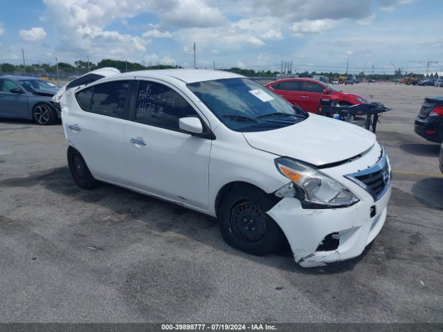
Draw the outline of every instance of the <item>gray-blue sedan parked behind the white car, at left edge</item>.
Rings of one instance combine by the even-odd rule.
[[[0,76],[0,118],[33,119],[51,124],[60,111],[51,104],[59,88],[32,76]]]

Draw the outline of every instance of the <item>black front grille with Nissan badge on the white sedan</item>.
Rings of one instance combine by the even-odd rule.
[[[369,192],[374,201],[380,199],[388,190],[392,173],[385,150],[382,148],[378,163],[368,169],[345,176]]]

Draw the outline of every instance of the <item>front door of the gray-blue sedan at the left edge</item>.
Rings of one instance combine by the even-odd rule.
[[[23,93],[12,93],[11,89],[21,89],[12,80],[0,80],[0,116],[7,118],[29,118],[28,96]]]

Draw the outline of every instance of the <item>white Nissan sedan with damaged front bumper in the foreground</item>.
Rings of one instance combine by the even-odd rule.
[[[113,183],[217,216],[253,255],[285,239],[301,266],[356,257],[380,232],[391,192],[370,131],[308,114],[224,71],[122,73],[68,89],[75,183]]]

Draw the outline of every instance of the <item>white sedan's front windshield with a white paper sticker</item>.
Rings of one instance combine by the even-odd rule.
[[[226,127],[234,131],[266,131],[287,127],[307,118],[264,86],[247,78],[230,78],[188,84]]]

